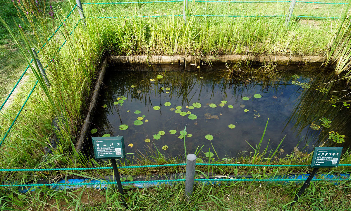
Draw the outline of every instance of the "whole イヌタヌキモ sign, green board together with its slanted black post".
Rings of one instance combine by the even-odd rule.
[[[305,183],[300,188],[299,192],[294,198],[294,202],[291,203],[293,206],[300,198],[306,187],[309,186],[312,178],[318,172],[319,168],[327,167],[338,167],[341,152],[343,147],[315,147],[313,151],[313,157],[311,162],[312,172],[306,179]]]

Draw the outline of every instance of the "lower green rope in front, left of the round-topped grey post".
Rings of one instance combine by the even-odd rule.
[[[147,180],[147,181],[124,181],[122,184],[131,183],[161,183],[161,182],[180,182],[185,179],[165,179],[165,180]],[[8,184],[0,185],[0,187],[23,187],[23,186],[78,186],[78,185],[112,185],[117,182],[100,182],[100,183],[53,183],[53,184]]]

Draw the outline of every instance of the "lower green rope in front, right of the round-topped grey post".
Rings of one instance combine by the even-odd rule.
[[[194,179],[194,181],[305,181],[305,179]],[[312,181],[343,181],[343,180],[351,180],[351,178],[325,178],[325,179],[312,179]]]

